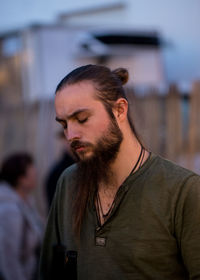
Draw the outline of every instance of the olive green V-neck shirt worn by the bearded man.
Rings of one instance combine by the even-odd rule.
[[[61,176],[44,238],[40,279],[53,245],[77,251],[78,280],[200,279],[200,177],[151,154],[118,191],[102,227],[88,205],[79,245],[72,231],[76,165]]]

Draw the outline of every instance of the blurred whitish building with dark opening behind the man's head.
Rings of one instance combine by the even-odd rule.
[[[52,98],[59,80],[83,64],[126,67],[135,86],[165,83],[156,32],[35,26],[0,38],[0,99],[16,104]]]

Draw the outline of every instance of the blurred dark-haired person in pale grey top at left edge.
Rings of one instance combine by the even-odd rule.
[[[37,279],[43,225],[31,198],[35,188],[31,155],[5,158],[0,171],[0,273],[5,280]]]

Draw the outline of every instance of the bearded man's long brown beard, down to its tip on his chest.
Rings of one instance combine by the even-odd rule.
[[[113,178],[111,163],[117,157],[122,140],[122,132],[114,115],[110,114],[109,126],[96,144],[80,141],[71,143],[72,152],[78,160],[73,200],[73,230],[77,237],[80,236],[87,204],[94,206],[94,198],[99,184],[107,185]],[[84,149],[79,149],[79,153],[76,153],[77,147]]]

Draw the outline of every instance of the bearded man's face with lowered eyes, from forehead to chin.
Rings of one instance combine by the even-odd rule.
[[[84,81],[57,92],[55,109],[56,119],[78,160],[87,161],[99,155],[105,162],[115,158],[122,133],[102,102],[95,98],[93,83]]]

